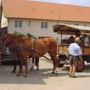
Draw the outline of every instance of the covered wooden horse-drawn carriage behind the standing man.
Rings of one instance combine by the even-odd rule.
[[[58,24],[54,26],[54,32],[61,34],[61,43],[58,45],[58,55],[60,61],[62,58],[64,59],[63,61],[68,60],[68,46],[70,44],[70,40],[68,38],[63,39],[63,36],[77,36],[77,35],[90,35],[90,27],[84,27],[84,26],[76,26],[76,25],[67,25],[67,24]],[[83,60],[86,62],[90,62],[90,46],[85,47],[84,42],[81,43],[81,48],[83,52]],[[85,62],[81,62],[78,60],[76,70],[77,71],[83,71]],[[64,63],[60,63],[60,66],[63,66]]]

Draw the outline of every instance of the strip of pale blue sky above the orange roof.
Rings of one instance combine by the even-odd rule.
[[[90,0],[32,0],[32,1],[63,3],[63,4],[72,4],[90,7]]]

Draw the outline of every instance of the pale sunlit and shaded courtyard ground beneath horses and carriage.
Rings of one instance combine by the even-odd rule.
[[[40,60],[40,70],[29,72],[27,78],[12,74],[12,66],[0,66],[0,90],[90,90],[90,64],[69,78],[68,71],[58,69],[58,75],[51,74],[52,64]]]

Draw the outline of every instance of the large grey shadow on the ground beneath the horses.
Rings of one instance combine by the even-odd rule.
[[[52,74],[52,69],[40,69],[29,72],[28,77],[16,76],[11,73],[11,66],[0,66],[0,84],[41,84],[46,85],[44,79],[50,77],[63,77],[67,72],[59,72],[58,75]]]

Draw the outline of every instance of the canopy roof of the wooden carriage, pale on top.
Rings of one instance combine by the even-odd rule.
[[[77,25],[67,25],[67,24],[58,24],[54,26],[54,32],[60,34],[80,34],[80,33],[89,33],[90,27],[87,26],[77,26]]]

